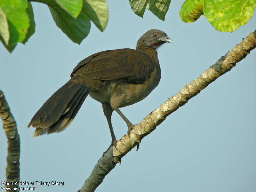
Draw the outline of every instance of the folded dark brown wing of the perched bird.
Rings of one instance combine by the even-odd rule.
[[[74,68],[74,75],[98,80],[127,80],[142,83],[156,67],[156,61],[134,49],[116,49],[95,53]]]

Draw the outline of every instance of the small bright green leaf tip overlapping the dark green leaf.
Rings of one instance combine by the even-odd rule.
[[[75,19],[79,15],[83,6],[83,0],[54,0],[54,2],[63,10],[70,13]]]

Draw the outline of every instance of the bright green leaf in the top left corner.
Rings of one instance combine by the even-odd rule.
[[[29,19],[21,1],[0,0],[0,7],[8,20],[10,32],[8,45],[15,45],[23,41],[28,31]]]

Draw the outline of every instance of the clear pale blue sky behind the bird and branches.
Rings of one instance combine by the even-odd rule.
[[[58,134],[32,138],[31,117],[73,68],[89,55],[135,48],[141,35],[163,30],[173,44],[158,50],[162,77],[144,100],[121,108],[133,123],[159,107],[200,76],[242,38],[255,30],[255,14],[233,33],[216,31],[204,16],[194,23],[179,18],[181,1],[172,1],[165,21],[146,10],[135,15],[128,1],[108,1],[109,21],[101,33],[92,23],[81,45],[74,44],[52,20],[44,4],[32,3],[36,33],[12,54],[0,46],[0,86],[18,124],[21,140],[20,181],[65,182],[36,191],[77,191],[91,173],[111,137],[101,104],[86,98],[75,120]],[[256,50],[237,63],[144,138],[139,151],[122,158],[96,191],[224,192],[256,191]],[[116,138],[126,124],[112,116]],[[5,180],[6,138],[0,134],[0,180]]]

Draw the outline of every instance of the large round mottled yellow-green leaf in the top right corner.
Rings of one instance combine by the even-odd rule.
[[[204,0],[204,15],[216,30],[232,32],[247,23],[255,7],[255,0]]]

